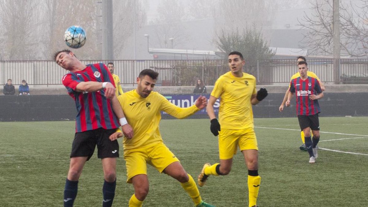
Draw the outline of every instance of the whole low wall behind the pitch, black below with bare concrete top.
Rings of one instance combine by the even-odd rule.
[[[253,107],[254,117],[296,117],[295,105],[279,112],[286,86],[264,86],[269,91],[268,97]],[[124,91],[132,90],[126,87]],[[191,93],[193,87],[155,87],[161,94]],[[212,87],[208,87],[208,92]],[[48,121],[74,120],[77,110],[73,99],[66,95],[65,88],[38,89],[29,96],[0,96],[0,121]],[[58,95],[58,94],[63,95]],[[320,116],[368,116],[368,85],[328,85],[325,97],[319,100],[322,113]],[[207,118],[206,115],[192,118]],[[171,118],[169,115],[164,119]]]

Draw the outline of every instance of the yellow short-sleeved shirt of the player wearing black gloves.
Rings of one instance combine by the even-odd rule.
[[[231,71],[217,79],[211,95],[220,98],[219,123],[221,129],[245,129],[254,127],[252,95],[256,94],[255,77],[243,73],[235,77]]]

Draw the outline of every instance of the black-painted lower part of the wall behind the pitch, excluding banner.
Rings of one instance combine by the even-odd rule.
[[[164,94],[163,94],[164,95]],[[285,94],[269,94],[261,103],[253,106],[255,118],[296,117],[295,97],[293,105],[279,112]],[[368,116],[367,93],[325,93],[318,100],[321,106],[319,116]],[[77,110],[69,95],[28,95],[0,96],[0,121],[57,121],[75,120]],[[163,119],[171,119],[164,115]],[[189,118],[208,118],[207,115],[193,115]]]

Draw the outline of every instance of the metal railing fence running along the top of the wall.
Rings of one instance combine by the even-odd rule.
[[[82,60],[84,64],[107,60]],[[114,73],[124,86],[135,84],[143,69],[159,72],[156,85],[189,86],[197,79],[214,85],[217,78],[229,71],[226,60],[114,60]],[[339,74],[334,73],[334,59],[308,59],[309,70],[326,84],[368,84],[368,59],[339,59]],[[0,61],[0,84],[8,78],[14,85],[26,80],[29,85],[61,85],[67,73],[54,61]],[[296,59],[246,60],[244,71],[254,75],[261,85],[286,85],[297,73]],[[335,77],[339,80],[335,81]]]

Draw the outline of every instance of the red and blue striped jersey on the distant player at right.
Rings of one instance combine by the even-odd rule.
[[[309,77],[302,80],[300,77],[290,81],[290,92],[296,93],[297,115],[314,115],[321,112],[317,100],[309,99],[310,95],[322,93],[321,86],[316,78]]]

